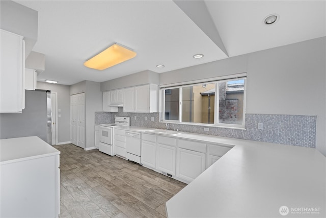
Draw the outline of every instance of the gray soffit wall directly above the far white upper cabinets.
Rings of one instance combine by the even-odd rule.
[[[101,91],[114,90],[149,83],[158,84],[159,75],[156,72],[145,70],[137,72],[136,74],[131,74],[125,77],[102,82]]]

